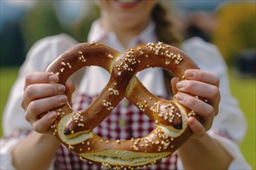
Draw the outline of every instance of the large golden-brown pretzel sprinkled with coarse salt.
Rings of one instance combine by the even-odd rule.
[[[147,67],[162,67],[185,80],[187,69],[198,66],[180,49],[162,42],[147,43],[126,53],[99,43],[81,43],[57,57],[47,67],[64,84],[71,74],[84,66],[101,66],[110,74],[109,82],[87,109],[74,112],[67,103],[55,109],[59,117],[50,130],[80,158],[101,162],[105,168],[134,168],[153,165],[171,155],[189,138],[187,118],[195,112],[150,93],[134,76]],[[110,141],[92,130],[126,97],[155,122],[154,130],[143,138]]]

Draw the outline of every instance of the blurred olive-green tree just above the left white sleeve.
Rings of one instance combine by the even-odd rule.
[[[79,42],[87,40],[92,22],[99,17],[99,9],[92,6],[89,15],[83,17],[74,26],[62,26],[54,11],[54,1],[40,1],[36,8],[26,15],[22,21],[22,32],[26,39],[26,49],[45,36],[67,33]]]

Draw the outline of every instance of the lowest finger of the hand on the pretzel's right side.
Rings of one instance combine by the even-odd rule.
[[[196,120],[195,117],[189,117],[188,124],[196,138],[202,138],[206,134],[205,128],[199,121]]]

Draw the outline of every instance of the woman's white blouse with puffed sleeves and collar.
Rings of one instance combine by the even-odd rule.
[[[107,32],[103,29],[98,20],[93,23],[88,35],[88,42],[92,41],[106,44],[120,52],[125,50],[119,43],[116,35],[113,32]],[[150,22],[149,26],[139,36],[132,39],[130,47],[147,42],[157,42],[157,37],[154,33],[154,22]],[[55,57],[77,43],[70,36],[60,34],[41,39],[32,46],[27,54],[26,61],[19,70],[19,76],[13,84],[9,94],[9,100],[5,106],[2,118],[5,137],[13,134],[15,131],[31,130],[30,124],[24,118],[25,112],[20,106],[26,75],[36,70],[43,71]],[[214,119],[213,127],[208,133],[220,141],[223,148],[227,149],[230,155],[234,157],[229,169],[250,169],[250,165],[245,161],[237,145],[237,142],[244,138],[247,130],[247,122],[245,121],[244,114],[238,107],[237,100],[230,93],[227,66],[219,50],[213,44],[204,42],[198,37],[186,40],[182,44],[182,49],[199,65],[201,70],[207,70],[220,76],[220,110],[218,116]],[[137,77],[151,93],[159,96],[166,95],[163,84],[164,76],[162,75],[161,68],[143,70],[137,73]],[[105,87],[108,80],[109,73],[106,70],[96,66],[87,67],[80,82],[82,86],[78,87],[78,92],[89,95],[97,94],[99,90]],[[217,132],[220,129],[227,131],[227,134],[233,140],[218,135]],[[10,154],[12,147],[24,137],[24,135],[21,135],[19,138],[1,140],[1,169],[13,168],[12,156]],[[181,162],[178,162],[178,167],[182,168]]]

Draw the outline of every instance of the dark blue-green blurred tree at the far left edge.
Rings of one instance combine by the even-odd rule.
[[[0,1],[0,66],[19,66],[25,58],[24,39],[19,20],[25,15],[6,1]]]

